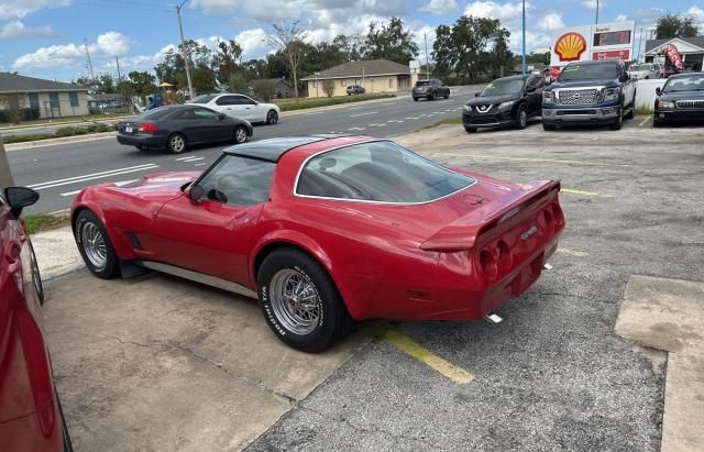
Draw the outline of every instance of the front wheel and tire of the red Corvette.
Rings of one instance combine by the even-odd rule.
[[[90,210],[81,210],[74,223],[74,236],[86,266],[99,278],[120,275],[120,262],[102,221]]]

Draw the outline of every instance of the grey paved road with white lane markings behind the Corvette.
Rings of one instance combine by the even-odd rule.
[[[409,97],[362,102],[331,110],[283,114],[276,125],[254,129],[254,140],[310,133],[356,133],[394,136],[461,114],[462,106],[480,86],[452,88],[449,99],[414,102]],[[157,172],[204,169],[224,145],[201,146],[183,155],[165,151],[141,152],[114,139],[61,144],[8,153],[15,183],[40,191],[29,212],[51,212],[70,207],[84,187],[127,183]]]

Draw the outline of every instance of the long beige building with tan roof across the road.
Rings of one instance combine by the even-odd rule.
[[[370,92],[410,91],[411,75],[408,66],[387,59],[367,59],[344,63],[301,78],[308,86],[308,97],[346,96],[348,87],[361,86]],[[415,81],[415,80],[413,80]]]

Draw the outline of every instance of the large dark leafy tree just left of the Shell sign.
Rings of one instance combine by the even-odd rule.
[[[509,36],[497,19],[463,15],[452,26],[440,25],[432,45],[436,70],[474,81],[481,73],[512,64]]]

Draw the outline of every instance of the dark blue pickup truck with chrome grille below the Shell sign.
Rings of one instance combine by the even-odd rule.
[[[562,124],[609,124],[619,130],[632,119],[636,82],[619,60],[568,64],[542,92],[542,128]]]

